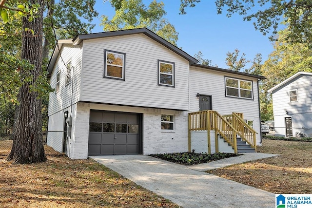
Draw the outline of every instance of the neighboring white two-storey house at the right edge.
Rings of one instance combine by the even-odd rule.
[[[312,73],[298,72],[271,88],[276,134],[295,136],[312,129]],[[310,136],[310,135],[309,135]]]

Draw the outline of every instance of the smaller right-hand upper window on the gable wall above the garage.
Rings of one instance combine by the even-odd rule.
[[[175,87],[175,63],[158,60],[158,85]]]

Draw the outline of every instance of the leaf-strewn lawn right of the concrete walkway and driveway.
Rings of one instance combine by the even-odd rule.
[[[208,172],[273,193],[312,193],[312,142],[264,139],[257,151],[280,156]]]

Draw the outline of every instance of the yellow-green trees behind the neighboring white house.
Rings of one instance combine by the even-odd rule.
[[[285,29],[278,32],[274,51],[261,67],[261,74],[267,79],[260,86],[260,108],[266,120],[273,119],[272,96],[268,90],[297,72],[312,72],[312,51],[307,43],[290,44],[285,38],[291,33]]]

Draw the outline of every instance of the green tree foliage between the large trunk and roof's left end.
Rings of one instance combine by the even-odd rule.
[[[73,38],[90,33],[95,27],[90,22],[98,16],[94,9],[96,0],[49,0],[46,16],[43,19],[44,46],[43,58],[47,63],[49,52],[54,48],[56,39]]]

